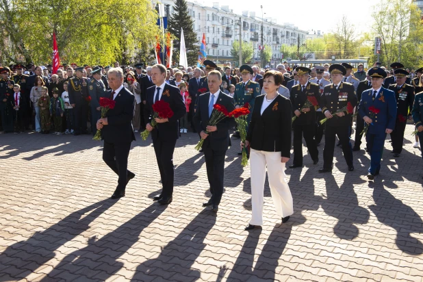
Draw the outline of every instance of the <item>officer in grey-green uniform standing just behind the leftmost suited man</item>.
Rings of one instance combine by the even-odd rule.
[[[101,118],[100,98],[106,97],[106,88],[101,79],[101,67],[94,66],[91,71],[92,79],[88,82],[88,93],[91,97],[91,131],[92,135],[97,132],[97,120]]]

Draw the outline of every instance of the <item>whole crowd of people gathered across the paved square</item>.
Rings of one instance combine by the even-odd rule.
[[[423,68],[409,72],[399,62],[390,64],[389,68],[387,70],[379,62],[367,72],[362,64],[353,72],[353,67],[346,63],[310,68],[290,66],[287,62],[276,68],[248,65],[219,68],[214,62],[205,60],[201,68],[186,69],[166,68],[160,64],[121,67],[118,62],[112,68],[71,64],[60,66],[57,73],[52,74],[50,65],[25,67],[15,64],[11,68],[0,68],[0,130],[3,133],[32,130],[78,136],[94,135],[97,129],[107,128],[105,135],[111,137],[104,138],[108,149],[106,155],[103,151],[103,159],[119,175],[118,188],[112,198],[125,196],[127,182],[135,177],[127,170],[127,157],[126,164],[125,160],[116,164],[117,155],[129,154],[127,144],[135,140],[133,132],[152,131],[163,185],[155,201],[162,204],[172,202],[172,156],[177,138],[188,131],[198,133],[199,138],[205,140],[201,151],[205,155],[212,194],[210,201],[203,205],[211,205],[213,211],[218,211],[225,154],[231,146],[231,137],[240,138],[240,133],[233,133],[236,125],[233,118],[225,118],[217,125],[209,125],[209,118],[216,103],[225,105],[228,110],[248,107],[247,137],[241,146],[248,149],[251,160],[253,217],[246,229],[253,229],[263,223],[266,169],[278,214],[283,222],[292,214],[292,196],[284,170],[291,158],[292,146],[293,162],[289,167],[303,166],[303,139],[316,165],[318,146],[324,136],[323,166],[318,170],[324,173],[332,171],[335,144],[342,147],[348,170],[354,170],[352,152],[361,150],[361,140],[365,136],[366,151],[371,159],[369,180],[379,175],[387,134],[391,137],[393,156],[400,157],[407,120],[413,120],[416,127],[413,146],[419,146],[419,139],[422,146]],[[110,70],[114,74],[112,77]],[[111,125],[110,120],[107,122],[107,118],[101,118],[99,105],[101,97],[116,99],[116,95],[123,93],[122,89],[125,89],[125,97],[133,96],[125,102],[127,116],[133,101],[133,114],[129,120],[125,118],[125,126],[129,123],[133,132],[128,135],[124,149],[120,145],[110,145],[118,141],[116,134],[107,131],[113,127],[115,131],[120,129]],[[167,101],[175,115],[156,118],[158,125],[153,127],[153,104],[158,100]],[[115,112],[118,111],[107,117],[114,120]],[[355,142],[352,146],[354,117]],[[339,140],[337,143],[335,136]],[[120,165],[123,168],[116,167]]]

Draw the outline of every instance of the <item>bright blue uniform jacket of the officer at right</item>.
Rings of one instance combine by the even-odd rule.
[[[359,104],[359,114],[361,117],[368,116],[373,120],[373,125],[369,125],[368,133],[385,133],[386,129],[395,128],[396,121],[396,99],[392,90],[381,88],[378,96],[372,101],[373,88],[363,91]],[[372,114],[369,107],[374,106],[379,109],[379,114]]]

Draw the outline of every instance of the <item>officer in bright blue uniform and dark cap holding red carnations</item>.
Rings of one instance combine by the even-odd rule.
[[[370,153],[370,168],[368,179],[373,180],[381,170],[381,158],[386,134],[395,128],[396,99],[392,90],[383,88],[383,79],[386,72],[382,68],[370,68],[368,75],[371,77],[372,88],[363,91],[359,104],[359,116],[363,117],[368,126],[366,133],[367,148]],[[375,107],[379,113],[374,114],[370,107]]]

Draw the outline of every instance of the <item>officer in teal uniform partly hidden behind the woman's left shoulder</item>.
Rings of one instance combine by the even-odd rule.
[[[240,67],[240,72],[242,81],[235,85],[233,99],[235,100],[236,109],[239,107],[244,107],[244,105],[248,103],[248,110],[250,110],[250,114],[248,114],[247,117],[246,131],[248,131],[248,125],[250,124],[251,115],[253,114],[255,98],[260,94],[260,85],[257,82],[251,80],[251,75],[254,73],[251,66],[246,64],[242,65]],[[238,135],[239,133],[235,137]],[[238,153],[238,155],[242,155],[242,152]]]

